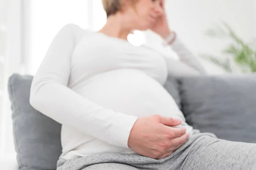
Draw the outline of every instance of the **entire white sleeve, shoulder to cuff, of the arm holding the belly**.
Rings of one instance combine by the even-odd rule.
[[[76,46],[75,27],[67,24],[54,37],[33,78],[30,104],[62,125],[128,148],[128,137],[137,117],[103,108],[67,87]]]

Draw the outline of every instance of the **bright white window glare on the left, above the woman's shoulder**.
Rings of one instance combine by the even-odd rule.
[[[30,0],[29,72],[38,70],[50,43],[66,24],[88,27],[87,0]]]

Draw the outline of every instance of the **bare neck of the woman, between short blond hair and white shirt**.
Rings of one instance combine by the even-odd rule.
[[[107,23],[99,32],[111,37],[127,40],[127,36],[130,34],[131,29],[129,29],[129,27],[125,27],[126,25],[127,24],[125,24],[122,14],[117,13],[108,17]]]

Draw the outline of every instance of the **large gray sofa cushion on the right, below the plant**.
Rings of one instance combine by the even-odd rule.
[[[256,75],[183,77],[182,111],[201,132],[256,143]]]

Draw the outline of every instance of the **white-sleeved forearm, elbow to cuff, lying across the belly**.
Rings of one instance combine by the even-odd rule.
[[[128,147],[128,137],[137,120],[136,116],[103,108],[48,80],[32,84],[30,102],[36,110],[62,125],[119,147]]]

